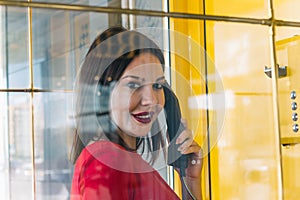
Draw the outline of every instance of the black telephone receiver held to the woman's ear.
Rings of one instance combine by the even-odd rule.
[[[188,155],[182,155],[177,149],[176,139],[184,130],[181,123],[181,111],[178,99],[171,87],[166,83],[164,85],[165,94],[165,114],[168,126],[170,144],[168,147],[168,164],[180,169],[180,175],[185,176],[185,169],[188,166]]]

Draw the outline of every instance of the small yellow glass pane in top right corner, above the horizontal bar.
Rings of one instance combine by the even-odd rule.
[[[299,1],[274,0],[274,14],[277,19],[300,21]]]

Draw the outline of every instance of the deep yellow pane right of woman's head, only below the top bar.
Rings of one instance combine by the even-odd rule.
[[[201,179],[205,184],[195,187],[193,192],[202,193],[202,196],[206,197],[209,195],[210,185],[207,184],[209,174],[207,173],[206,55],[201,45],[204,36],[203,22],[171,18],[170,24],[174,27],[174,31],[168,33],[172,89],[180,101],[182,118],[187,121],[188,128],[193,131],[194,140],[202,147],[204,154]],[[200,180],[200,177],[198,179]],[[180,192],[182,182],[178,176],[175,176],[174,182],[175,191]],[[186,197],[183,196],[183,199]]]

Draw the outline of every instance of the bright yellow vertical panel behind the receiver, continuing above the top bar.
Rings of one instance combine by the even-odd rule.
[[[170,1],[171,12],[189,12],[203,13],[202,1]],[[172,86],[181,102],[182,115],[188,120],[189,127],[195,131],[196,141],[203,143],[206,133],[206,113],[205,110],[191,109],[189,107],[189,98],[201,94],[205,94],[204,68],[200,68],[203,60],[200,60],[200,54],[203,52],[203,22],[188,19],[170,19],[171,30],[171,48],[176,53],[171,54]],[[192,41],[192,42],[191,42]],[[193,49],[193,50],[191,50]],[[199,117],[201,116],[201,117]],[[207,163],[205,158],[204,163]],[[207,177],[207,167],[204,167],[202,177]],[[180,181],[176,177],[176,191],[180,194]],[[203,184],[206,183],[203,178]],[[201,189],[201,188],[199,188]],[[203,189],[203,196],[206,196],[206,189]]]

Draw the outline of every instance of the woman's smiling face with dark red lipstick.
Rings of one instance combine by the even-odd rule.
[[[121,132],[140,137],[150,131],[165,104],[164,73],[158,58],[142,53],[132,60],[111,95],[111,115]]]

